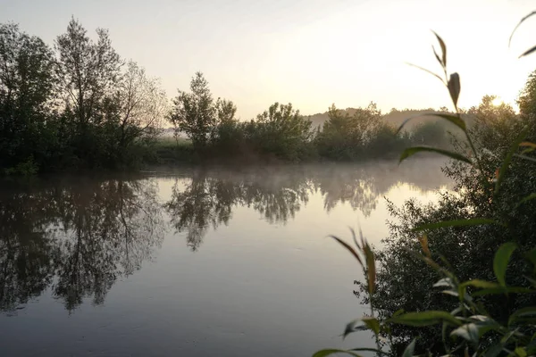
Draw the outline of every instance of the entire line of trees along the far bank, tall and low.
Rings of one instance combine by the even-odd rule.
[[[291,104],[272,104],[249,121],[236,112],[229,100],[214,100],[200,72],[190,91],[170,103],[158,79],[121,59],[105,29],[92,39],[72,19],[48,46],[15,24],[0,25],[0,169],[6,173],[175,159],[358,160],[448,142],[437,122],[395,136],[375,104],[352,115],[333,105],[317,129]],[[166,123],[191,145],[162,145]]]

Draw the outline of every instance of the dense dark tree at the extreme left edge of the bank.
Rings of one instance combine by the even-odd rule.
[[[54,99],[52,52],[15,24],[0,25],[0,166],[47,155]]]

